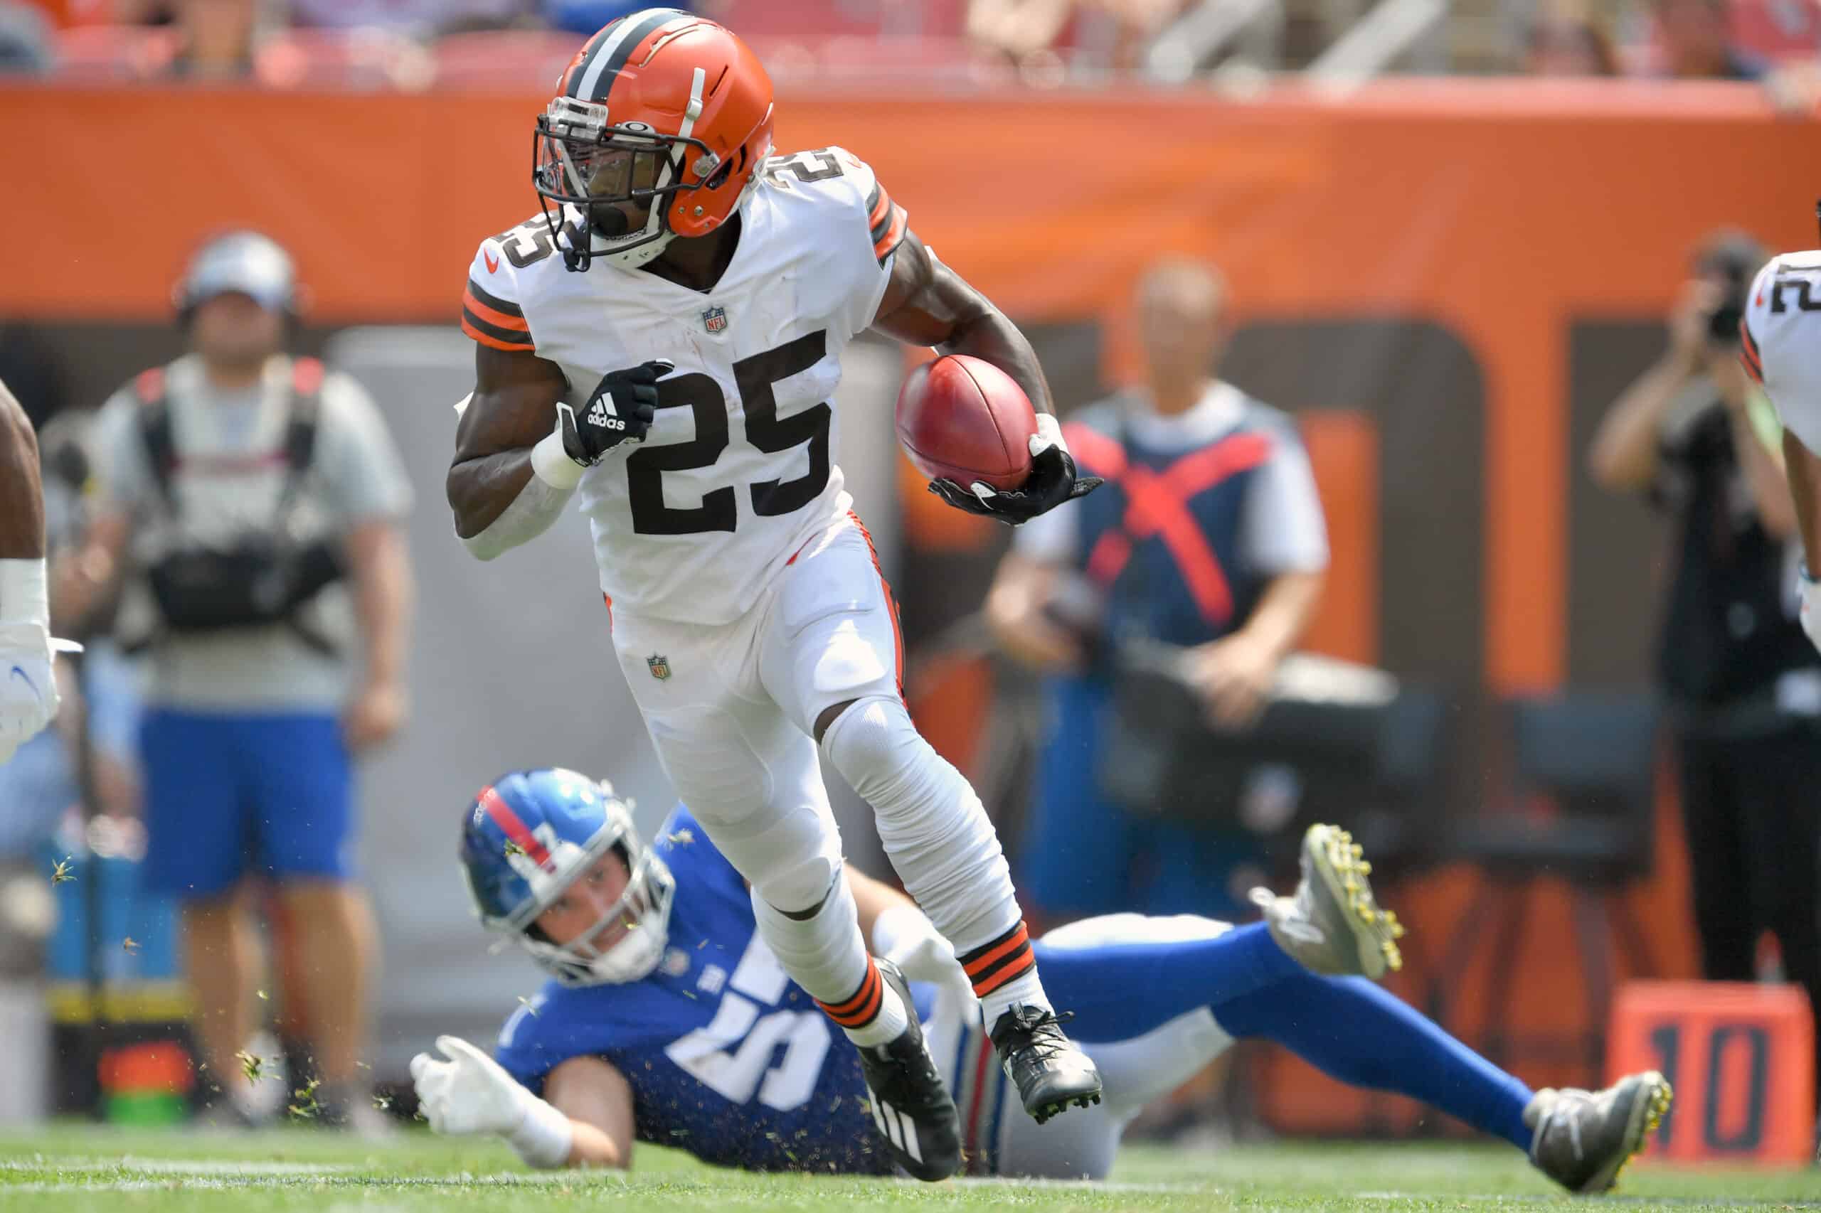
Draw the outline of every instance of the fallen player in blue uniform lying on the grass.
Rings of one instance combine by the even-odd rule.
[[[634,1140],[754,1171],[890,1175],[914,1147],[860,1056],[785,976],[745,882],[677,807],[646,847],[612,789],[570,770],[506,776],[468,805],[463,865],[481,922],[554,980],[506,1020],[497,1060],[441,1036],[412,1062],[439,1133],[495,1133],[532,1166],[625,1167]],[[1399,963],[1358,849],[1311,827],[1295,898],[1266,922],[1113,914],[1038,943],[1045,987],[1105,1078],[1105,1102],[1047,1126],[1007,1082],[967,974],[910,900],[849,871],[885,980],[905,984],[976,1175],[1100,1178],[1153,1098],[1235,1040],[1501,1137],[1570,1191],[1612,1188],[1668,1111],[1650,1071],[1604,1091],[1531,1091],[1373,985]],[[991,963],[991,958],[982,958]],[[1324,976],[1328,974],[1328,976]],[[1016,1111],[1016,1091],[1011,1093]]]

